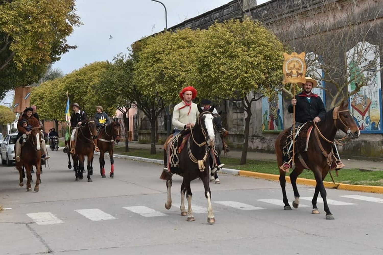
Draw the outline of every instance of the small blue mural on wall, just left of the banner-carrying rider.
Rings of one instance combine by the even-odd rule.
[[[270,100],[262,97],[262,131],[283,130],[282,93]]]

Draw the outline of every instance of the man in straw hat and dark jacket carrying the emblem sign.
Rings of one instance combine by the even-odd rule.
[[[306,83],[298,83],[303,91],[296,96],[297,99],[291,99],[291,104],[288,106],[287,110],[290,113],[293,113],[293,106],[295,106],[295,127],[303,125],[303,123],[313,121],[315,123],[320,122],[326,115],[326,109],[324,108],[323,101],[320,96],[312,93],[312,89],[318,86],[318,82],[311,77],[306,77]],[[334,151],[335,162],[332,166],[332,169],[341,169],[344,167],[344,164],[340,160],[338,149],[336,148],[335,143],[332,146]],[[290,149],[292,151],[292,149]],[[292,152],[290,151],[289,156],[292,157]],[[291,168],[291,157],[290,161],[284,162],[280,167],[285,172],[288,172],[288,169]]]

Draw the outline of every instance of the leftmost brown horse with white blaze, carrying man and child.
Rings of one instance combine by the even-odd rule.
[[[31,191],[32,181],[32,167],[36,166],[36,183],[34,191],[39,191],[40,174],[41,174],[41,133],[40,128],[34,127],[31,130],[31,134],[28,136],[26,143],[21,148],[21,160],[16,162],[16,168],[20,175],[20,187],[24,186],[23,183],[23,165],[26,170],[26,190]]]

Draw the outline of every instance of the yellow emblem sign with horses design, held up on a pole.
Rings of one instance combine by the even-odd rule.
[[[305,55],[304,52],[301,52],[301,54],[293,52],[291,55],[286,52],[283,53],[283,57],[285,58],[283,62],[283,84],[306,83],[306,79],[304,78],[306,75]]]

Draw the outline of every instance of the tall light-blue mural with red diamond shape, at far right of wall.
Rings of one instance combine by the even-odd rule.
[[[363,55],[354,54],[363,52]],[[350,110],[361,132],[383,133],[382,98],[380,82],[379,47],[359,42],[347,52],[347,71],[349,72],[349,92],[354,91],[356,83],[367,81],[360,91],[350,97]]]

